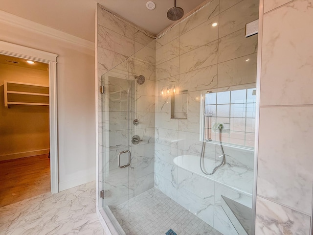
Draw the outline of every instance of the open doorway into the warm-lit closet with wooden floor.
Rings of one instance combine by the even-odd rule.
[[[51,180],[49,66],[0,54],[0,74],[1,207],[50,192]]]

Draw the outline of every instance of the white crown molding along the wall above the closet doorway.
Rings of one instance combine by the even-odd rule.
[[[79,46],[94,49],[94,42],[82,39],[80,37],[76,37],[74,35],[62,32],[60,30],[45,26],[44,24],[39,24],[1,10],[0,10],[0,23],[12,25],[23,29],[26,28],[32,32],[44,34],[45,36],[48,35],[49,37],[63,40],[68,43],[73,43]]]

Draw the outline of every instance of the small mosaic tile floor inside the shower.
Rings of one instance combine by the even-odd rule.
[[[222,235],[156,188],[111,211],[127,235],[164,235],[169,229],[178,235]]]

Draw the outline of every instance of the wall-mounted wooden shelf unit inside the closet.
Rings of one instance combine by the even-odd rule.
[[[4,81],[4,106],[49,105],[49,87],[41,84]]]

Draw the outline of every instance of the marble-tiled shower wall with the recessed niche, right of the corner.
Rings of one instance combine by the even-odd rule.
[[[156,40],[155,187],[192,211],[224,235],[234,235],[220,206],[222,193],[251,207],[249,193],[231,189],[231,182],[217,184],[173,163],[179,155],[200,155],[200,98],[208,90],[228,91],[232,86],[255,86],[257,35],[245,38],[245,24],[258,18],[258,0],[213,0],[200,11]],[[213,23],[218,27],[213,27]],[[246,61],[248,60],[248,61]],[[161,95],[167,87],[188,89],[188,118],[171,119],[171,98]],[[255,110],[254,110],[255,111]],[[245,123],[232,118],[233,130]],[[255,117],[247,119],[254,140]],[[224,133],[234,140],[237,133]],[[215,139],[217,136],[215,136]],[[249,146],[253,146],[251,141]],[[216,148],[216,149],[215,149]],[[227,164],[253,171],[253,150],[227,147]],[[218,146],[208,144],[205,156],[215,158]],[[218,160],[217,160],[218,161]],[[219,172],[219,176],[227,174]],[[219,177],[218,176],[218,177]],[[231,177],[231,173],[229,175]],[[225,182],[224,182],[225,183]],[[203,189],[203,185],[207,186]],[[203,191],[204,190],[204,191]],[[215,212],[214,212],[215,211]]]

